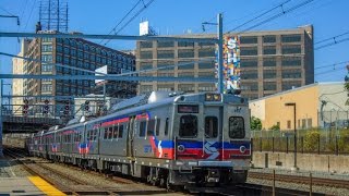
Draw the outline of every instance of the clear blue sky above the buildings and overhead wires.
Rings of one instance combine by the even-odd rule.
[[[35,24],[39,20],[40,1],[45,0],[0,0],[0,15],[17,15],[21,22],[17,26],[15,19],[0,17],[0,32],[34,33]],[[349,32],[348,0],[313,0],[288,12],[305,1],[310,0],[65,0],[69,4],[69,32],[84,34],[109,34],[134,5],[134,10],[116,28],[119,30],[124,26],[119,35],[139,35],[139,24],[145,20],[149,21],[159,35],[216,33],[214,25],[205,26],[203,32],[202,23],[215,23],[218,13],[224,14],[224,32],[252,20],[236,32],[245,30],[276,14],[280,16],[251,30],[289,29],[311,24],[314,26],[314,48],[334,44],[334,39],[330,39],[316,45]],[[148,3],[149,5],[143,9]],[[269,11],[273,8],[275,9]],[[262,13],[266,14],[253,20]],[[127,23],[133,16],[134,20]],[[349,34],[336,37],[337,41],[341,39],[349,39]],[[134,41],[123,40],[112,40],[107,46],[118,50],[135,48]],[[315,82],[344,81],[348,73],[348,47],[349,41],[344,41],[314,51]],[[0,52],[16,54],[19,51],[17,38],[0,37]],[[0,73],[11,72],[11,58],[0,56]]]

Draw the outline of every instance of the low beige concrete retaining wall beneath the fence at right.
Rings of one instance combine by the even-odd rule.
[[[252,163],[255,168],[291,169],[294,154],[253,152]],[[297,154],[297,168],[303,171],[349,174],[349,156]]]

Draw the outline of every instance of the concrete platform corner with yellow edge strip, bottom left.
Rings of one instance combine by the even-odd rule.
[[[65,195],[41,177],[1,177],[0,196]]]

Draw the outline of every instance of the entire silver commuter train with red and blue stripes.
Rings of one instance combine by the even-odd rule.
[[[33,134],[26,147],[32,156],[168,188],[244,183],[250,110],[231,94],[152,91],[104,117]]]

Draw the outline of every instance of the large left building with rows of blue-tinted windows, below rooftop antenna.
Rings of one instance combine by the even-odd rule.
[[[47,33],[47,32],[46,32]],[[50,32],[55,34],[56,32]],[[104,65],[108,73],[119,74],[135,70],[134,56],[117,51],[84,39],[68,38],[35,38],[31,41],[25,57],[39,61],[26,61],[25,74],[55,74],[55,75],[94,75],[95,71]],[[55,64],[63,64],[59,66]],[[67,68],[76,68],[70,69]],[[85,71],[86,70],[86,71]],[[103,93],[93,79],[25,79],[24,94],[28,96],[84,96],[92,93]],[[106,95],[117,98],[129,98],[136,94],[135,82],[107,82]],[[29,103],[39,103],[47,98],[33,98]],[[50,103],[64,103],[64,100],[50,100]],[[56,108],[56,110],[61,110]]]

